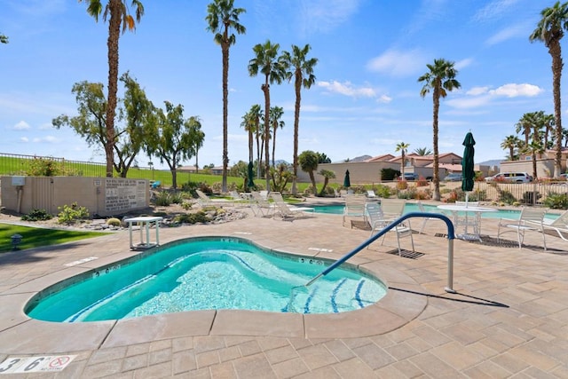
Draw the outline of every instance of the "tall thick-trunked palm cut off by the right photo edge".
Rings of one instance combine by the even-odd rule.
[[[540,41],[548,48],[552,57],[552,93],[554,98],[554,119],[556,124],[556,158],[554,162],[554,176],[557,178],[562,173],[562,107],[560,100],[560,82],[562,76],[562,51],[560,40],[564,36],[564,30],[568,29],[568,2],[552,5],[540,12],[540,19],[533,30],[529,41]]]

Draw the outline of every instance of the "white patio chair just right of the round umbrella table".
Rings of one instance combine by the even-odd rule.
[[[525,241],[525,233],[537,232],[542,234],[542,244],[544,245],[544,251],[546,251],[547,241],[543,223],[545,213],[547,213],[547,209],[524,207],[517,220],[501,218],[497,228],[497,240],[501,241],[501,234],[515,232],[517,233],[518,249],[521,249],[523,241]]]

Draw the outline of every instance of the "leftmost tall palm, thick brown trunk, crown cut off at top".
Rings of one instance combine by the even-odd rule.
[[[105,154],[106,154],[106,177],[113,177],[114,167],[114,142],[116,136],[114,135],[114,116],[116,115],[116,91],[118,88],[118,40],[122,34],[129,30],[136,28],[134,18],[130,15],[126,0],[108,0],[103,12],[103,4],[100,0],[79,0],[79,2],[88,1],[87,13],[99,21],[99,15],[103,13],[103,20],[110,15],[108,21],[108,39],[106,46],[108,49],[108,96],[106,98],[106,141],[105,141]],[[131,0],[131,7],[136,8],[136,21],[140,22],[144,15],[144,5],[139,0]]]

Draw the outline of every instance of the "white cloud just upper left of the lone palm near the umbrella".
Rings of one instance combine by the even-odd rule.
[[[422,51],[385,51],[382,55],[367,62],[367,70],[385,75],[414,75],[424,67],[427,61]]]

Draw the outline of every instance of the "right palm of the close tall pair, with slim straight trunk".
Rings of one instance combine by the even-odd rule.
[[[292,164],[294,170],[294,177],[292,178],[292,194],[296,195],[296,178],[298,173],[298,131],[300,127],[300,103],[302,101],[302,87],[309,90],[312,84],[315,83],[316,77],[313,75],[313,67],[318,64],[318,59],[308,59],[308,52],[312,47],[306,44],[303,49],[300,49],[295,44],[292,45],[292,53],[288,51],[283,52],[284,59],[288,67],[293,67],[293,72],[288,73],[288,80],[294,76],[294,90],[296,91],[296,103],[294,106],[294,162]]]

